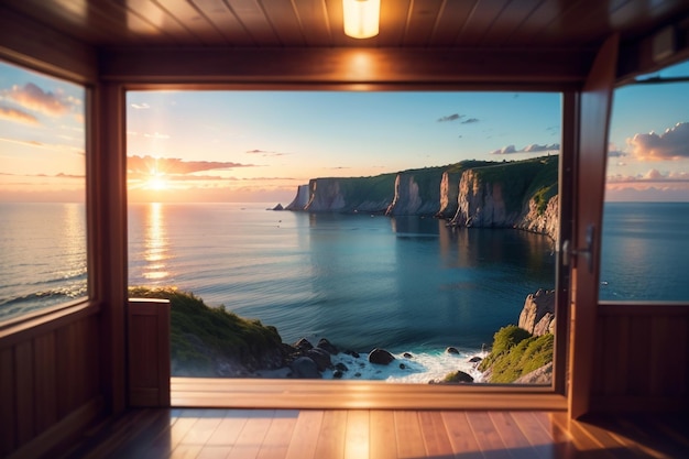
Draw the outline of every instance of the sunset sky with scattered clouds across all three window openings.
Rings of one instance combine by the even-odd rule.
[[[0,200],[84,199],[84,99],[0,63]],[[287,205],[309,178],[557,154],[560,113],[538,92],[129,91],[129,199]],[[617,89],[609,156],[608,200],[689,200],[689,84]]]

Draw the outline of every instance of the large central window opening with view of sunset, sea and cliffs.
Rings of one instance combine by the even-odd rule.
[[[561,112],[557,92],[128,91],[130,294],[173,299],[173,376],[293,378],[326,338],[313,378],[483,381],[503,327],[526,340],[492,382],[545,367]]]

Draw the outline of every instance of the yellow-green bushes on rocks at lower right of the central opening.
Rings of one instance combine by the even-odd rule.
[[[480,371],[491,370],[491,383],[511,383],[553,361],[554,336],[539,337],[510,325],[493,337],[493,349],[479,365]]]

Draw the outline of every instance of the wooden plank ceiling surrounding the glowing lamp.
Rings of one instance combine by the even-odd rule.
[[[689,15],[687,0],[381,0],[380,34],[342,31],[341,0],[3,0],[94,46],[597,48]]]

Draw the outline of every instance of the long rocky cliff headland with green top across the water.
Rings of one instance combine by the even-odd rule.
[[[450,226],[518,228],[557,239],[558,156],[462,161],[371,177],[311,178],[288,210],[436,216]]]

